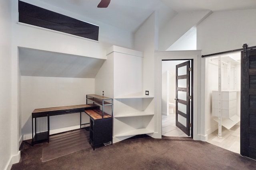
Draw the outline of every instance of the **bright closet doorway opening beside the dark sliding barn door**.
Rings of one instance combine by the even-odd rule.
[[[241,53],[205,60],[207,142],[240,154]]]

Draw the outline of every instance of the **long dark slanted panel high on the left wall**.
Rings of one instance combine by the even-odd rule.
[[[98,41],[99,27],[19,1],[19,22]]]

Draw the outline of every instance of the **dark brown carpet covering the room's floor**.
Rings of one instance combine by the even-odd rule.
[[[140,137],[42,162],[42,144],[22,143],[12,170],[255,170],[256,161],[191,138]]]

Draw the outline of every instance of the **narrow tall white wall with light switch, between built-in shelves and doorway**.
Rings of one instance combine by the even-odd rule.
[[[154,51],[158,49],[158,12],[154,12],[134,34],[134,49],[143,52],[143,91],[149,91],[149,95],[154,96],[156,91],[156,70],[154,61]],[[157,114],[156,96],[154,98],[154,113]],[[159,113],[160,115],[161,112]],[[152,137],[162,137],[162,125],[157,116],[154,117],[155,133]]]

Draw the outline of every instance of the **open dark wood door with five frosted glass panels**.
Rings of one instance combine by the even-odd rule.
[[[176,65],[176,126],[190,135],[190,61]]]

